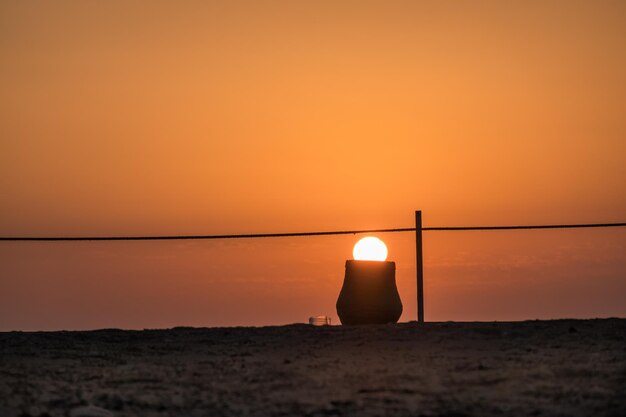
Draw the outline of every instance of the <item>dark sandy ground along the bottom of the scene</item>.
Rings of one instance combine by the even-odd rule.
[[[626,416],[626,320],[0,333],[0,416]]]

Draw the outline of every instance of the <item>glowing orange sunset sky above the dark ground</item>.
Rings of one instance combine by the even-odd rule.
[[[625,45],[620,1],[3,1],[0,235],[624,222]],[[0,242],[0,330],[338,323],[358,238]],[[427,320],[626,317],[624,228],[424,273]]]

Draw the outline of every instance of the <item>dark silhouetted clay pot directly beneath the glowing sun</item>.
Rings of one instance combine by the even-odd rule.
[[[396,323],[401,314],[395,262],[346,261],[337,299],[342,324]]]

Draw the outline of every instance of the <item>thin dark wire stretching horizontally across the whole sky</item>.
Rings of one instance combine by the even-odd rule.
[[[423,227],[422,231],[460,231],[460,230],[524,230],[524,229],[575,229],[589,227],[624,227],[626,223],[587,223],[587,224],[550,224],[532,226],[452,226],[452,227]],[[339,230],[329,232],[296,232],[296,233],[253,233],[230,235],[179,235],[179,236],[62,236],[62,237],[0,237],[0,241],[102,241],[102,240],[192,240],[192,239],[256,239],[270,237],[298,237],[298,236],[330,236],[356,235],[362,233],[395,233],[415,232],[415,227],[396,229],[361,229]]]

